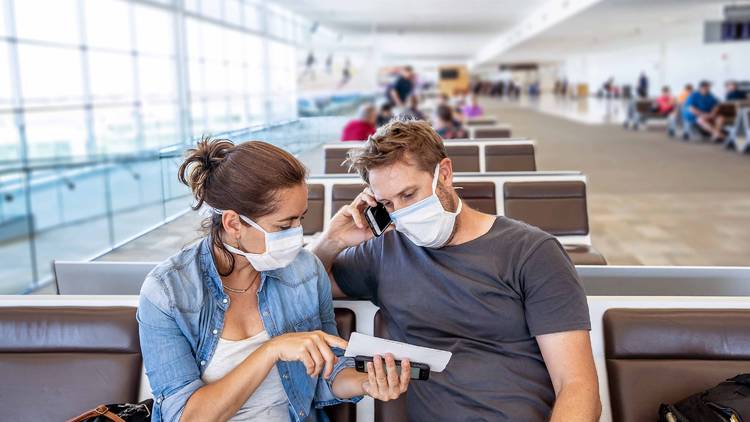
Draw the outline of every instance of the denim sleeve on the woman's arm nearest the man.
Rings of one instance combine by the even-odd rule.
[[[336,329],[336,316],[333,312],[333,298],[331,296],[331,281],[328,278],[328,273],[325,271],[323,264],[317,260],[318,265],[318,301],[320,304],[320,321],[323,326],[323,331],[338,336],[339,332]],[[354,359],[345,358],[344,350],[333,347],[331,349],[333,354],[338,357],[336,364],[333,366],[333,372],[331,376],[326,380],[322,376],[319,378],[317,388],[315,390],[314,406],[321,408],[325,406],[331,406],[339,403],[357,403],[362,400],[362,396],[355,396],[350,399],[340,399],[333,394],[333,382],[336,376],[345,368],[354,367]]]

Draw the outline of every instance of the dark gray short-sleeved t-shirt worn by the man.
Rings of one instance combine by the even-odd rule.
[[[380,306],[393,340],[453,352],[445,371],[410,384],[411,420],[547,419],[555,392],[535,336],[591,329],[560,243],[505,217],[441,249],[390,231],[343,251],[333,275],[350,297]]]

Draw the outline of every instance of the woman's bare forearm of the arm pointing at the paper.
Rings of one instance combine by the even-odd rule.
[[[260,346],[216,382],[196,390],[185,404],[180,421],[226,421],[234,416],[263,380],[276,358],[267,344]]]

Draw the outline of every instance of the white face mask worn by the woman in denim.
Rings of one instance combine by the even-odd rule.
[[[224,243],[229,252],[242,255],[250,261],[250,265],[258,271],[270,271],[289,265],[302,249],[302,226],[277,232],[267,232],[253,220],[240,216],[247,224],[263,232],[266,251],[260,254],[243,252],[232,245]]]

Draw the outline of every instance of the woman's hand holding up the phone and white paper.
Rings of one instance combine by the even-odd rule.
[[[401,361],[399,376],[392,354],[386,353],[385,365],[383,358],[375,355],[372,362],[367,362],[367,380],[362,383],[362,389],[365,394],[376,400],[396,400],[409,388],[410,379],[411,364],[408,359]]]

